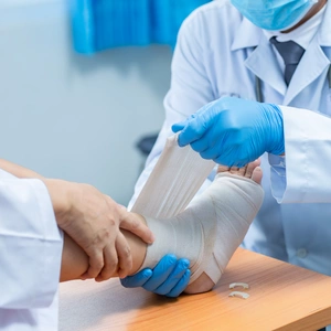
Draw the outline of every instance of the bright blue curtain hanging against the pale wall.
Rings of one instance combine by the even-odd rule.
[[[93,54],[110,47],[174,46],[183,20],[211,0],[72,0],[74,49]]]

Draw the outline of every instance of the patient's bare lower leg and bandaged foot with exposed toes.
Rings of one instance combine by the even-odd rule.
[[[188,293],[211,290],[220,280],[229,258],[242,243],[263,202],[259,161],[245,168],[220,167],[209,189],[195,197],[185,211],[169,220],[143,218],[156,235],[147,245],[132,233],[122,231],[132,254],[131,275],[153,268],[168,253],[190,260]],[[79,279],[88,269],[88,257],[71,237],[64,237],[61,281]],[[114,274],[113,277],[117,277]]]

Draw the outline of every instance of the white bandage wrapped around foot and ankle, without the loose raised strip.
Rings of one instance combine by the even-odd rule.
[[[141,267],[153,268],[168,253],[190,260],[194,281],[203,271],[216,284],[242,243],[264,197],[254,181],[218,173],[188,209],[168,220],[147,217],[156,242],[147,248]]]

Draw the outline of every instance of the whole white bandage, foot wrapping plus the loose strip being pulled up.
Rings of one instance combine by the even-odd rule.
[[[190,260],[190,282],[203,271],[218,281],[260,207],[263,189],[226,172],[217,174],[190,203],[214,166],[191,147],[180,148],[177,136],[168,138],[131,209],[146,217],[156,236],[140,269],[153,268],[163,255],[172,253]]]

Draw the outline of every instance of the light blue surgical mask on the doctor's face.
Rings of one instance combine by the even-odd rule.
[[[253,24],[265,30],[287,30],[296,25],[318,0],[231,0]]]

